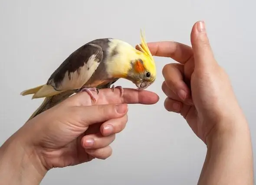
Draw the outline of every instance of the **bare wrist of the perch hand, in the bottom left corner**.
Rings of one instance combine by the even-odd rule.
[[[4,184],[40,184],[46,172],[34,147],[18,133],[0,147],[0,179]]]

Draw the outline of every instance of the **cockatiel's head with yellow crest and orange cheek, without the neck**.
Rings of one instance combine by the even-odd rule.
[[[128,79],[135,83],[138,89],[146,89],[156,79],[156,66],[142,32],[141,45],[138,45],[138,48],[131,59]]]

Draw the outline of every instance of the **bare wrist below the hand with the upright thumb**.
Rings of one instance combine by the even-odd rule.
[[[206,140],[207,155],[198,184],[253,185],[253,152],[244,116],[223,119]]]

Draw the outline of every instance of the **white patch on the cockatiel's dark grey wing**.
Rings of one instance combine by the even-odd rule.
[[[73,73],[66,72],[62,83],[58,86],[58,89],[62,89],[62,91],[80,89],[92,77],[92,74],[95,72],[99,64],[100,62],[98,62],[98,58],[93,54],[89,58],[88,62],[82,67],[79,67],[78,70]]]

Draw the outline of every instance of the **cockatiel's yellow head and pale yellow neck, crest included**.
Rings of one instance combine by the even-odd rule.
[[[106,65],[108,74],[113,78],[130,80],[138,89],[146,89],[154,83],[156,79],[154,58],[142,34],[138,50],[120,40],[112,40],[112,48],[117,49],[118,54],[108,61]]]

